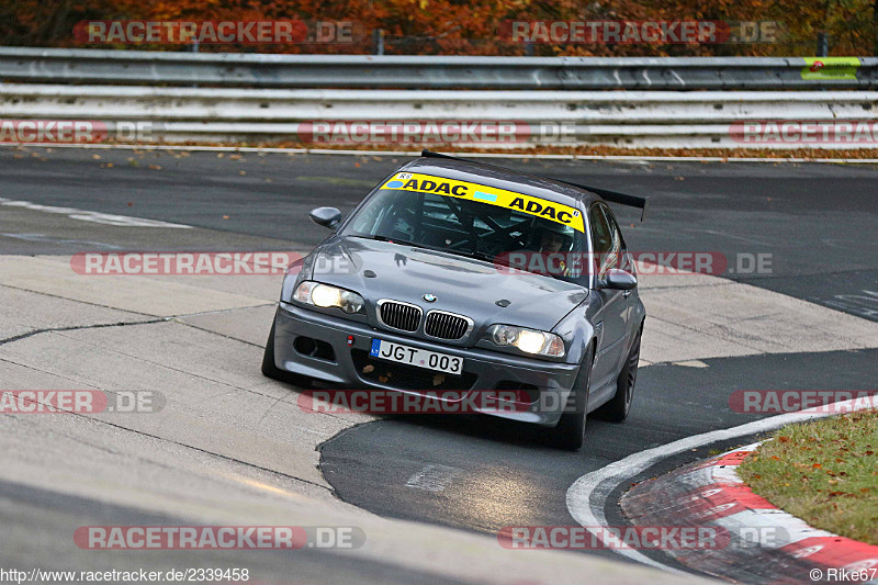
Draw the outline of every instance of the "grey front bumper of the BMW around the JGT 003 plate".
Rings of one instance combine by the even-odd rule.
[[[351,345],[348,342],[348,336],[352,337]],[[300,337],[322,342],[320,350],[308,352],[313,355],[301,351],[305,344],[302,340],[296,342]],[[391,363],[368,357],[372,339],[375,337],[463,358],[463,374],[451,376],[452,380],[449,381],[450,384],[457,384],[454,390],[528,389],[530,395],[528,402],[500,401],[506,402],[509,408],[492,408],[483,412],[544,426],[558,424],[579,370],[577,364],[548,362],[481,348],[447,346],[406,337],[283,302],[280,303],[274,320],[274,363],[281,370],[339,384],[346,390],[372,387],[409,393],[431,390],[429,384],[413,385],[412,379],[408,380],[408,384],[393,385],[393,379],[382,383],[374,376],[368,376],[363,372],[364,360],[379,367]],[[326,346],[331,347],[331,351]],[[424,375],[439,373],[424,369],[416,370],[423,370]],[[401,383],[399,378],[396,378],[397,384]]]

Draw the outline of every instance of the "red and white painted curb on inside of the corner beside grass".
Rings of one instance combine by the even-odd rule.
[[[725,547],[666,551],[684,565],[712,575],[746,583],[878,583],[878,547],[813,528],[741,481],[735,469],[759,445],[641,483],[623,496],[622,509],[637,526],[728,532]],[[841,576],[859,571],[866,578]]]

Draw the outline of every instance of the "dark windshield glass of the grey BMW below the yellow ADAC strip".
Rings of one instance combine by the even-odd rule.
[[[360,207],[341,235],[389,239],[578,281],[566,268],[582,256],[582,232],[526,212],[458,196],[381,189]],[[554,257],[554,269],[547,267]],[[560,259],[560,263],[559,263]]]

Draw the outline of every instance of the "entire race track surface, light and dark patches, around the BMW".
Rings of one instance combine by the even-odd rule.
[[[301,551],[293,573],[277,551],[202,552],[198,562],[250,566],[266,583],[320,582],[327,563],[334,567],[327,582],[497,578],[489,562],[484,574],[452,575],[441,558],[389,551],[410,539],[448,542],[458,535],[446,529],[452,528],[464,532],[453,538],[472,539],[473,555],[486,554],[477,547],[492,550],[491,539],[506,526],[576,525],[566,493],[582,475],[644,449],[757,419],[733,412],[735,391],[875,389],[874,166],[507,161],[649,195],[645,223],[617,209],[630,249],[717,252],[732,269],[642,277],[648,320],[632,414],[622,425],[589,418],[587,443],[577,453],[552,449],[539,429],[486,417],[303,414],[292,386],[259,374],[280,277],[147,283],[70,270],[70,256],[81,251],[306,252],[325,235],[308,222],[308,210],[350,211],[403,160],[0,149],[0,317],[11,324],[0,331],[0,389],[155,389],[169,405],[160,416],[122,419],[0,416],[0,448],[9,458],[0,470],[0,521],[11,539],[0,558],[37,565],[47,547],[67,548],[86,566],[98,553],[74,547],[77,526],[184,525],[187,518],[258,526],[279,521],[280,514],[301,525],[354,517],[379,544],[357,558]],[[761,273],[748,270],[756,257],[767,259]],[[752,438],[706,445],[630,481]],[[53,473],[41,471],[47,466]],[[417,480],[424,476],[430,482]],[[626,488],[616,486],[606,502],[611,524],[626,522],[618,507]],[[329,511],[296,515],[308,506]],[[499,548],[496,540],[493,547]],[[193,564],[180,551],[162,554],[145,561],[117,552],[97,563]],[[571,563],[621,560],[607,551],[553,554]],[[661,553],[653,556],[678,567]],[[539,575],[528,562],[521,560],[521,578]],[[559,566],[562,581],[582,574],[576,565]]]

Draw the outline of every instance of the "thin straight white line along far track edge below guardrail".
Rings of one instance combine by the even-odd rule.
[[[2,143],[0,147],[33,148],[86,148],[99,150],[187,150],[191,153],[279,153],[286,155],[339,155],[339,156],[420,156],[420,150],[334,150],[331,148],[272,148],[259,146],[175,146],[155,144],[21,144]],[[538,155],[528,153],[450,153],[470,158],[532,158],[539,160],[631,160],[656,162],[821,162],[838,165],[878,165],[878,158],[767,158],[767,157],[673,157],[635,155]]]

